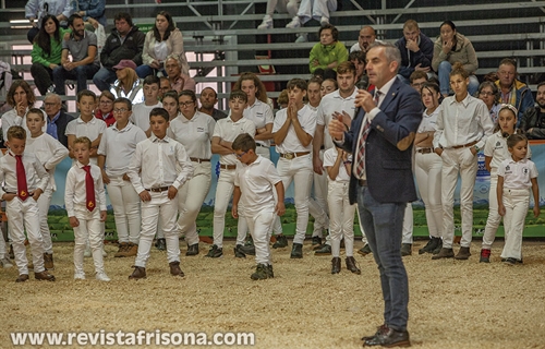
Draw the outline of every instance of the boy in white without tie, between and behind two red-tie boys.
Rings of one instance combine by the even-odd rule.
[[[46,269],[53,269],[53,244],[51,242],[49,225],[47,224],[47,214],[49,213],[51,196],[57,190],[55,184],[55,168],[69,155],[69,151],[59,141],[43,131],[45,123],[41,110],[32,108],[26,113],[26,127],[31,133],[31,137],[26,140],[26,151],[36,155],[50,178],[46,190],[38,198],[38,208],[45,250],[44,264]]]

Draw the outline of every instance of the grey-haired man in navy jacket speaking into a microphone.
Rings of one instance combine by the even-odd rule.
[[[350,131],[331,120],[329,133],[352,153],[350,203],[360,218],[380,273],[384,324],[365,346],[409,346],[409,282],[401,260],[401,232],[407,203],[416,200],[412,144],[422,120],[419,93],[396,74],[401,57],[396,46],[375,43],[367,51],[367,76],[374,94],[360,89]]]

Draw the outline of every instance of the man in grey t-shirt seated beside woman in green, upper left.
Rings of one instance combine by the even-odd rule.
[[[65,94],[66,79],[76,80],[77,92],[84,91],[87,89],[87,80],[93,79],[100,69],[95,33],[85,31],[83,19],[78,14],[70,16],[69,26],[72,33],[66,34],[62,40],[61,65],[53,69],[55,93],[61,96]]]

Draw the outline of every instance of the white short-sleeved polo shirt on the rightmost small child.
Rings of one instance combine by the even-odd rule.
[[[498,167],[498,176],[504,177],[504,189],[524,190],[532,188],[532,178],[537,178],[537,168],[532,160],[514,161],[505,159]]]

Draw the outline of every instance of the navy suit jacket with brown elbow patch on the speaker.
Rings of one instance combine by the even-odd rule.
[[[344,132],[342,148],[358,153],[365,111],[356,110],[350,131]],[[380,105],[380,111],[371,122],[365,141],[365,169],[371,195],[380,203],[407,203],[416,200],[412,173],[412,144],[422,121],[419,93],[396,77]],[[349,198],[356,203],[358,179],[350,172]]]

